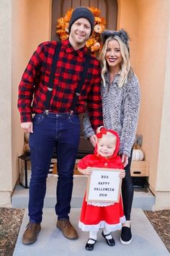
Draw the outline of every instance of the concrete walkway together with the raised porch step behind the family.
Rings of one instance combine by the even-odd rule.
[[[45,196],[42,230],[38,236],[37,242],[31,245],[22,244],[22,234],[27,226],[28,217],[25,211],[22,226],[14,249],[13,256],[168,256],[169,252],[161,242],[156,231],[151,226],[143,210],[151,210],[155,197],[148,189],[137,189],[133,198],[132,210],[132,231],[133,242],[130,245],[120,244],[120,231],[113,233],[115,237],[115,247],[109,247],[104,241],[99,231],[98,241],[92,252],[84,248],[89,237],[88,232],[79,230],[79,215],[81,202],[86,189],[86,176],[75,176],[73,185],[73,195],[71,200],[71,223],[79,232],[79,239],[68,240],[63,237],[59,229],[55,227],[56,216],[54,205],[56,202],[55,191],[57,176],[48,176],[47,192]],[[27,208],[28,189],[17,185],[12,196],[13,208]]]

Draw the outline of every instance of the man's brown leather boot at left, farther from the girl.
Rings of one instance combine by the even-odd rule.
[[[30,222],[26,226],[26,230],[22,236],[22,243],[23,244],[32,244],[37,240],[37,234],[41,230],[40,223],[33,223]]]

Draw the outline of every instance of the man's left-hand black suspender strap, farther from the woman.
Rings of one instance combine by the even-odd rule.
[[[55,53],[53,56],[53,62],[52,62],[52,66],[51,66],[50,79],[49,79],[49,83],[48,83],[48,91],[47,91],[46,101],[45,101],[45,109],[46,110],[50,110],[50,99],[52,96],[56,65],[57,65],[58,56],[60,54],[60,51],[61,51],[61,43],[58,42],[57,46],[55,48]]]

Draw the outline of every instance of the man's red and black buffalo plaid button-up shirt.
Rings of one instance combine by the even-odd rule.
[[[41,43],[32,55],[19,84],[18,108],[21,121],[32,121],[32,113],[45,110],[45,99],[48,90],[51,64],[56,41]],[[55,72],[53,94],[50,101],[51,113],[67,113],[71,109],[73,96],[84,69],[86,47],[75,51],[69,40],[63,40]],[[97,129],[102,122],[102,99],[100,95],[100,65],[91,56],[86,80],[76,104],[75,113],[82,114],[87,110],[91,126]]]

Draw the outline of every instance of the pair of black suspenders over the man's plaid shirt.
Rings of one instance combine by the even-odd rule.
[[[57,43],[57,46],[55,48],[55,54],[53,56],[53,62],[52,62],[52,67],[51,67],[51,72],[50,72],[50,79],[49,79],[49,84],[48,84],[48,91],[46,95],[46,101],[45,101],[45,112],[48,113],[50,110],[50,99],[52,97],[52,91],[53,91],[53,82],[54,82],[54,77],[55,77],[55,69],[58,61],[58,56],[61,51],[61,42]],[[71,105],[71,114],[73,114],[73,111],[76,108],[76,103],[78,101],[79,95],[81,95],[81,88],[84,85],[84,81],[86,79],[86,74],[89,68],[89,61],[90,61],[90,55],[86,54],[86,61],[84,63],[84,69],[83,72],[81,72],[81,80],[79,82],[78,88],[76,89],[76,94],[73,97],[73,103]]]

